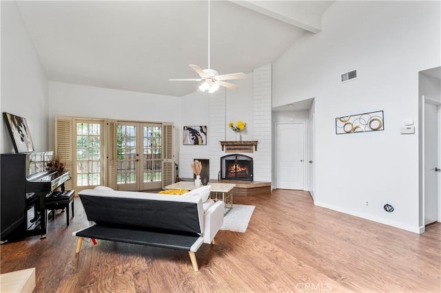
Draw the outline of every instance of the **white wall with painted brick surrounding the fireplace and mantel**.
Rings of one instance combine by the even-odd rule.
[[[196,92],[183,97],[183,125],[207,125],[205,146],[180,146],[179,176],[193,177],[190,164],[194,159],[209,160],[209,177],[218,179],[220,157],[226,155],[219,141],[236,140],[229,122],[242,120],[247,127],[241,132],[242,140],[257,140],[258,151],[247,153],[254,158],[254,180],[271,181],[271,65],[248,73],[241,80],[232,80],[238,89],[221,88],[215,94]],[[182,144],[182,142],[181,142]],[[205,171],[203,171],[205,173]]]

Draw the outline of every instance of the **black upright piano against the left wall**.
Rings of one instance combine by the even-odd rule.
[[[64,190],[69,171],[47,171],[53,152],[2,154],[1,243],[23,237],[46,237],[48,213],[45,199],[55,190]]]

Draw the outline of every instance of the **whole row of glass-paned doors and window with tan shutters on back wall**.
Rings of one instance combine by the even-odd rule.
[[[158,189],[174,183],[172,123],[55,118],[55,149],[79,192],[104,185],[116,190]]]

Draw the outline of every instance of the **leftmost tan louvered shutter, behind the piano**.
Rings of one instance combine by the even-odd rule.
[[[73,125],[74,121],[70,117],[55,117],[55,155],[61,162],[67,164],[71,180],[65,182],[65,189],[75,188],[75,168],[73,161]]]

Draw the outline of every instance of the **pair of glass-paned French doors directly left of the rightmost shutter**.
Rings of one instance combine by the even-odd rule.
[[[161,189],[162,146],[162,124],[119,121],[116,127],[117,189]]]

